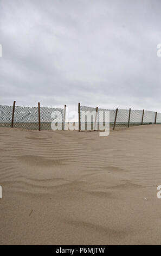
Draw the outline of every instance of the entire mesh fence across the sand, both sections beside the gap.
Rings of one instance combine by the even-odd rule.
[[[107,115],[110,114],[110,117]],[[54,114],[52,114],[54,113]],[[0,105],[0,126],[29,130],[51,130],[51,123],[59,130],[65,127],[66,105],[63,108],[24,107]],[[109,117],[109,118],[107,118]],[[161,124],[161,113],[131,109],[105,109],[81,106],[79,103],[78,127],[80,131],[99,130],[110,123],[110,129],[134,125]],[[70,129],[71,130],[71,129]]]

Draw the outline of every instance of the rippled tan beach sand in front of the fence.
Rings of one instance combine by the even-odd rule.
[[[0,127],[0,244],[160,245],[160,139]]]

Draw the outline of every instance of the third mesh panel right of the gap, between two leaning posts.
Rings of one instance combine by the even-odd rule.
[[[118,109],[115,128],[127,127],[129,109]]]

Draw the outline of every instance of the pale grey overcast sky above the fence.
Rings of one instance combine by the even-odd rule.
[[[160,10],[160,0],[0,0],[0,104],[161,112]]]

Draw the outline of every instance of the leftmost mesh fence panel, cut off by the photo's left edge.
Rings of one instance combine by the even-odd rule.
[[[12,106],[0,105],[0,126],[11,127]]]

